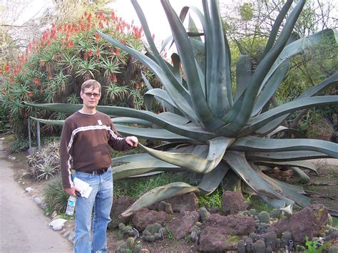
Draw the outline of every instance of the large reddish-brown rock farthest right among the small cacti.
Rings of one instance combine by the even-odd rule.
[[[304,243],[305,236],[312,240],[312,237],[320,234],[327,219],[328,212],[324,205],[310,205],[290,217],[273,223],[268,231],[275,231],[277,235],[290,231],[295,242]]]

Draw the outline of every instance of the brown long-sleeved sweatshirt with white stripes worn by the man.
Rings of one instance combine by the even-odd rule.
[[[101,170],[111,165],[110,149],[128,150],[126,138],[116,131],[108,115],[80,112],[69,116],[63,125],[60,143],[63,187],[73,187],[71,168],[81,172]]]

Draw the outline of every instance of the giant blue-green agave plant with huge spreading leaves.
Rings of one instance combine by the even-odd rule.
[[[164,143],[153,149],[140,145],[145,153],[114,158],[113,162],[123,164],[114,167],[115,180],[163,171],[188,171],[191,177],[200,177],[196,185],[175,182],[155,188],[140,197],[123,215],[130,215],[141,207],[174,195],[185,192],[208,195],[220,185],[229,187],[238,182],[270,205],[287,212],[292,212],[294,203],[301,207],[309,205],[309,199],[303,195],[301,187],[268,177],[262,170],[288,165],[298,175],[306,177],[302,168],[316,171],[306,160],[338,158],[338,145],[335,143],[302,138],[270,138],[278,131],[285,130],[280,125],[290,113],[312,106],[337,104],[337,96],[314,95],[337,84],[338,73],[289,103],[275,108],[265,105],[270,103],[272,95],[285,78],[292,57],[309,46],[325,41],[335,43],[333,31],[325,30],[307,38],[292,40],[292,29],[305,2],[300,0],[277,38],[282,20],[292,4],[292,1],[287,1],[253,73],[250,57],[240,56],[234,92],[230,78],[230,48],[222,32],[217,1],[203,0],[203,13],[195,7],[185,7],[180,16],[175,14],[168,0],[161,2],[178,49],[178,53],[171,56],[172,64],[165,61],[155,47],[137,1],[132,0],[132,3],[148,40],[146,55],[106,34],[101,33],[101,36],[148,66],[163,83],[163,88],[152,88],[144,78],[148,86],[144,96],[148,110],[114,106],[99,106],[98,110],[116,117],[112,120],[120,133]],[[183,20],[188,11],[198,16],[203,33],[186,31]],[[150,110],[153,99],[165,105],[165,112],[156,114]],[[80,105],[65,104],[33,106],[68,113],[80,108]],[[137,123],[138,127],[120,123]]]

